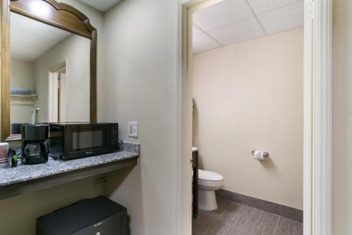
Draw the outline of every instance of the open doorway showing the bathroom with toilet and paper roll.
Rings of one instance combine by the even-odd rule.
[[[222,219],[232,217],[233,219],[237,216],[230,215],[229,208],[232,205],[236,205],[236,203],[247,203],[246,206],[249,206],[249,209],[254,208],[252,215],[261,215],[269,212],[270,215],[273,215],[272,221],[275,222],[273,222],[273,225],[267,223],[270,224],[270,228],[263,227],[263,230],[260,231],[252,231],[255,227],[258,229],[255,223],[251,226],[247,224],[247,227],[250,227],[247,230],[239,229],[240,226],[237,224],[235,230],[238,230],[239,233],[263,234],[265,229],[272,230],[269,231],[269,234],[274,234],[275,231],[282,232],[282,230],[276,229],[282,227],[282,222],[289,220],[289,222],[292,222],[291,224],[295,224],[295,228],[291,230],[296,229],[298,234],[302,234],[304,3],[303,1],[285,1],[285,4],[283,4],[282,1],[277,1],[277,4],[283,5],[275,6],[275,4],[272,4],[275,1],[270,1],[272,6],[262,4],[260,8],[265,9],[258,10],[258,6],[252,6],[256,4],[255,1],[241,2],[242,4],[239,4],[239,1],[226,0],[197,1],[198,4],[192,6],[191,10],[186,13],[187,23],[184,23],[184,25],[187,25],[189,29],[188,34],[191,34],[188,37],[188,43],[191,44],[192,34],[193,37],[199,35],[199,41],[201,39],[203,41],[198,45],[189,46],[188,49],[193,47],[193,51],[184,51],[187,52],[187,55],[184,55],[187,59],[184,59],[184,61],[187,61],[188,79],[183,84],[183,98],[187,100],[194,99],[193,108],[190,112],[193,117],[193,127],[188,126],[188,128],[193,129],[192,140],[189,138],[189,131],[187,130],[187,138],[189,139],[187,139],[188,144],[184,146],[189,146],[189,142],[191,142],[193,146],[198,147],[194,149],[199,149],[199,167],[201,170],[207,170],[210,174],[216,173],[213,176],[220,176],[218,178],[223,179],[223,184],[219,186],[222,190],[217,193],[218,198],[221,197],[220,201],[222,202],[220,204],[224,204],[223,200],[234,203],[229,205],[225,203],[225,206],[221,205],[222,208],[225,208],[222,211],[223,213],[219,214],[215,210],[214,217],[222,217]],[[210,8],[215,8],[218,13],[212,13]],[[201,13],[202,11],[203,13]],[[246,15],[246,11],[250,15]],[[285,13],[279,13],[280,11]],[[230,15],[232,13],[236,15]],[[197,15],[198,19],[196,20],[198,22],[194,20],[194,15]],[[199,15],[205,17],[201,18]],[[281,18],[277,19],[273,15]],[[297,15],[296,20],[287,20],[287,17],[292,18],[295,15]],[[211,21],[212,18],[213,21]],[[231,22],[231,20],[234,21]],[[192,22],[196,23],[192,24]],[[288,26],[286,27],[285,25]],[[232,29],[232,32],[226,32],[225,29]],[[275,40],[276,42],[274,42]],[[249,54],[250,51],[251,54]],[[289,54],[285,56],[285,52]],[[265,59],[265,56],[268,59]],[[269,63],[275,60],[275,63]],[[295,65],[291,66],[293,63]],[[263,65],[263,67],[253,67],[251,65]],[[277,71],[281,69],[282,72]],[[260,72],[260,70],[262,71]],[[272,74],[271,76],[270,73]],[[227,77],[227,81],[222,80],[223,77]],[[295,78],[296,80],[294,80]],[[273,82],[272,80],[276,81]],[[270,81],[273,83],[271,84]],[[250,84],[251,82],[253,84]],[[281,84],[286,87],[280,87]],[[198,97],[194,96],[195,92],[198,93]],[[218,95],[216,94],[217,92]],[[228,97],[231,94],[237,97]],[[291,97],[289,99],[293,102],[284,99],[285,94],[290,94]],[[200,98],[200,96],[203,97]],[[230,102],[226,103],[225,101]],[[266,102],[266,104],[263,102]],[[283,102],[282,105],[279,105],[279,102]],[[289,106],[291,106],[291,110]],[[280,113],[280,111],[284,113]],[[289,115],[290,113],[291,115]],[[227,117],[227,120],[220,120],[224,116]],[[213,121],[209,122],[208,119],[211,118],[213,118]],[[258,122],[263,128],[260,127],[256,120],[259,120]],[[285,124],[282,120],[290,120],[291,124]],[[242,121],[248,122],[249,128],[245,128]],[[277,124],[281,125],[281,127],[271,129],[272,125],[270,125],[270,122],[272,122],[272,125]],[[294,124],[292,124],[293,122]],[[232,128],[236,125],[237,131]],[[291,128],[289,131],[291,133],[285,133],[287,128]],[[239,132],[240,129],[244,132]],[[245,131],[246,129],[247,132]],[[276,132],[277,130],[279,132],[270,136],[270,132]],[[239,135],[239,138],[233,137],[236,134]],[[261,140],[260,138],[256,139],[256,136],[262,136],[263,138]],[[277,141],[273,141],[275,139],[273,136],[278,137],[275,137]],[[245,137],[249,137],[252,140],[251,144],[241,143],[243,139],[246,139]],[[281,151],[275,150],[275,142],[279,143],[282,139],[289,140],[291,138],[294,138],[294,143],[287,147],[291,149],[290,153],[285,152],[283,149]],[[233,141],[229,142],[231,139]],[[272,141],[270,142],[268,139]],[[265,144],[266,141],[268,141],[267,144]],[[216,144],[221,146],[215,146]],[[289,141],[286,144],[289,144]],[[249,149],[243,153],[235,149],[238,148],[239,150],[239,148],[244,148],[245,146]],[[284,144],[281,143],[279,148],[283,146]],[[223,155],[226,153],[223,153],[223,148],[227,149],[227,155],[230,156],[225,161]],[[265,160],[263,161],[256,160],[256,156],[251,155],[252,151],[256,150],[269,153],[269,157],[264,158]],[[279,157],[288,156],[291,153],[296,155],[296,157],[287,157],[287,163],[282,163],[284,160],[279,159]],[[237,160],[236,164],[234,163],[235,158]],[[244,162],[248,162],[249,165],[243,165]],[[221,163],[224,163],[222,167],[220,166]],[[254,167],[256,169],[251,168],[253,164],[256,164]],[[284,168],[288,170],[284,170]],[[294,174],[291,178],[288,174],[286,175],[290,170]],[[239,175],[232,176],[231,172],[234,171],[244,173],[243,177],[239,177]],[[277,173],[276,176],[275,171]],[[201,173],[203,174],[204,172]],[[225,174],[225,177],[222,174]],[[270,182],[272,179],[274,179],[275,183]],[[235,183],[230,186],[230,181]],[[282,185],[279,186],[278,182],[281,182]],[[296,186],[295,191],[291,191],[291,194],[287,188],[288,185],[285,185],[290,183]],[[275,184],[276,189],[272,187]],[[276,194],[277,198],[275,198],[276,196],[270,198],[269,194],[271,193],[272,195]],[[279,198],[280,196],[281,198]],[[254,204],[256,203],[253,204],[248,201],[255,201],[257,204],[260,202],[259,204],[264,203],[264,205],[267,203],[265,206],[272,205],[275,209],[261,208],[264,210],[260,210],[260,208],[255,208],[256,205]],[[282,208],[283,210],[290,210],[289,213],[293,212],[298,217],[285,217],[282,214]],[[237,210],[236,206],[233,209]],[[217,228],[217,225],[209,225],[211,222],[209,218],[212,216],[210,212],[206,212],[206,214],[205,217],[208,220],[198,224],[203,230],[201,233],[194,231],[194,234],[206,234],[206,229],[208,229],[210,234],[217,234],[218,231],[223,231],[221,227]],[[243,216],[238,217],[244,218]],[[199,216],[196,220],[198,219]],[[279,223],[280,220],[281,225]],[[217,222],[218,225],[225,225],[224,228],[229,229],[229,224],[225,219]],[[262,222],[259,221],[259,223]]]

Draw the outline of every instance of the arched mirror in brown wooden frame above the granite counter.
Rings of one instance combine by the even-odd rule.
[[[1,141],[20,140],[24,123],[95,123],[96,29],[87,16],[55,0],[1,1]]]

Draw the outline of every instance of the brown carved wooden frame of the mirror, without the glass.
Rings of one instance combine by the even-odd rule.
[[[90,107],[91,123],[96,123],[96,29],[89,18],[73,6],[55,0],[1,0],[1,141],[22,139],[10,134],[10,12],[18,13],[61,30],[91,40],[90,44]],[[33,11],[31,4],[46,8],[45,16]]]

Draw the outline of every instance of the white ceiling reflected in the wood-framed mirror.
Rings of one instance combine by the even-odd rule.
[[[35,61],[46,51],[71,35],[70,32],[11,12],[10,55]]]

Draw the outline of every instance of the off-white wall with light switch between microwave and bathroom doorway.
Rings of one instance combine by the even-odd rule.
[[[175,234],[177,1],[122,1],[105,16],[106,120],[142,147],[137,167],[108,178],[109,196],[127,206],[131,234]]]

